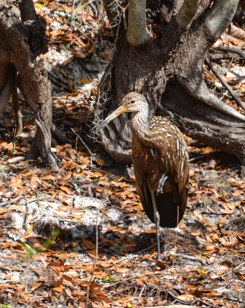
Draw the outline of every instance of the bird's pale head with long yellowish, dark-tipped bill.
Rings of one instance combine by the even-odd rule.
[[[122,104],[119,106],[113,113],[108,115],[107,118],[96,128],[94,131],[97,133],[105,124],[111,122],[118,115],[121,115],[124,112],[139,112],[139,111],[148,112],[148,103],[145,97],[137,92],[130,92],[124,96],[122,99]]]

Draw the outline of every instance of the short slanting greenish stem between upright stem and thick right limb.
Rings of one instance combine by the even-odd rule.
[[[201,0],[185,0],[179,12],[176,14],[176,20],[181,28],[188,29],[198,10]]]

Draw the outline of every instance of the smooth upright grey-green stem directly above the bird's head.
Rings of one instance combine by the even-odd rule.
[[[146,28],[145,0],[129,0],[128,2],[128,43],[135,47],[147,43],[151,39]]]

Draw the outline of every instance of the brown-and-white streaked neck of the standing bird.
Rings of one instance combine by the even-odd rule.
[[[146,131],[149,130],[148,110],[136,112],[131,120],[131,130],[133,136],[139,140],[144,140]]]

